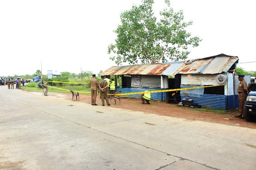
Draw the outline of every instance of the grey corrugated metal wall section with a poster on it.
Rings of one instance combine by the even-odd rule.
[[[134,85],[135,77],[140,77],[140,84]],[[161,87],[161,76],[132,75],[132,87]]]

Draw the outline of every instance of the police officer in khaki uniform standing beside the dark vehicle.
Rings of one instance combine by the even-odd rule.
[[[244,75],[238,74],[238,80],[240,84],[238,85],[237,92],[238,92],[238,102],[239,102],[239,112],[238,115],[234,117],[240,117],[240,119],[244,119],[244,104],[246,99],[246,94],[248,92],[247,83],[244,81]]]

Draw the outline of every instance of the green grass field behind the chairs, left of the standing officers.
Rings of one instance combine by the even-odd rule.
[[[84,88],[84,86],[54,86],[57,88],[63,88],[66,90],[73,90],[73,91],[79,91],[79,92],[91,92],[90,88]],[[22,90],[27,90],[27,91],[34,91],[34,92],[43,92],[43,89],[38,89],[37,87],[27,87],[27,86],[21,86]],[[55,93],[70,93],[70,91],[66,90],[60,90],[60,89],[55,89],[55,88],[48,88],[48,92],[55,92]],[[82,93],[82,94],[88,94],[89,93]]]

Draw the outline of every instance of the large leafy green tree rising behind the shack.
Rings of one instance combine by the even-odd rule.
[[[199,45],[202,40],[185,30],[192,21],[182,21],[183,12],[174,12],[170,0],[165,2],[167,8],[160,12],[160,21],[156,21],[152,10],[154,0],[142,0],[141,5],[120,15],[122,24],[114,30],[116,43],[108,46],[112,61],[118,65],[178,61],[187,58],[188,45]]]

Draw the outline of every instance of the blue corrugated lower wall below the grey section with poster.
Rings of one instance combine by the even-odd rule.
[[[134,92],[144,92],[145,90],[148,91],[154,91],[154,90],[160,90],[160,88],[154,88],[154,89],[146,89],[146,88],[117,88],[117,91],[122,91],[122,93],[134,93]],[[122,98],[140,98],[141,94],[131,94],[131,95],[125,95],[121,96]],[[161,93],[151,93],[151,99],[152,100],[166,100],[166,92]]]

